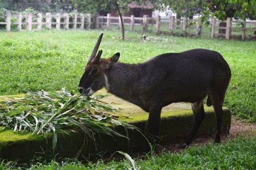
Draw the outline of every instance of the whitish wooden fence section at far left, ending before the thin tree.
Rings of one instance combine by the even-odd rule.
[[[12,22],[12,19],[15,20]],[[42,28],[45,29],[89,29],[91,27],[91,15],[83,13],[26,13],[22,15],[21,12],[12,15],[10,11],[5,13],[5,21],[0,22],[0,25],[5,25],[6,31],[11,31],[16,25],[15,29],[22,31],[40,31]],[[86,27],[84,22],[86,22]],[[70,27],[72,25],[72,27]],[[53,27],[54,26],[54,27]],[[79,27],[77,27],[79,26]]]

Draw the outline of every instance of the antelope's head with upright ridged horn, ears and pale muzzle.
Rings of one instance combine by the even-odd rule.
[[[82,95],[92,96],[92,94],[97,90],[108,86],[108,78],[106,73],[120,57],[120,53],[115,53],[115,55],[109,57],[108,59],[100,59],[102,50],[99,50],[98,52],[98,49],[102,36],[103,33],[100,34],[97,43],[93,48],[92,55],[85,66],[84,74],[81,77],[78,90]],[[108,89],[108,87],[106,88]]]

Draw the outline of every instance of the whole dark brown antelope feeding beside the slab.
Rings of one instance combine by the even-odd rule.
[[[161,110],[177,102],[191,103],[193,128],[182,147],[193,140],[204,120],[204,99],[213,106],[217,120],[215,143],[220,143],[222,106],[230,81],[230,68],[218,52],[205,49],[163,53],[140,64],[117,62],[120,53],[100,59],[103,34],[93,48],[78,90],[91,96],[105,87],[109,93],[134,103],[149,112],[145,134],[157,135]],[[97,53],[97,55],[96,55]]]

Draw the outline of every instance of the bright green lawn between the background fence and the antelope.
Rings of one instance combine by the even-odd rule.
[[[83,67],[102,31],[0,32],[0,95],[27,90],[76,90]],[[232,70],[225,106],[256,121],[256,42],[160,35],[141,41],[141,34],[104,31],[103,57],[120,52],[121,62],[138,63],[166,52],[207,48],[220,52]],[[154,36],[150,34],[148,36]],[[168,38],[168,41],[166,41]]]

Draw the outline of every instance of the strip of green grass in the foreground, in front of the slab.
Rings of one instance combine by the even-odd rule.
[[[205,145],[188,148],[184,152],[163,152],[160,155],[147,155],[136,158],[135,166],[140,169],[255,169],[256,138],[237,138],[223,145]],[[116,153],[118,154],[118,153]],[[14,168],[12,162],[0,164],[1,169]],[[104,162],[62,161],[50,163],[31,163],[24,165],[30,169],[132,169],[128,159]]]

